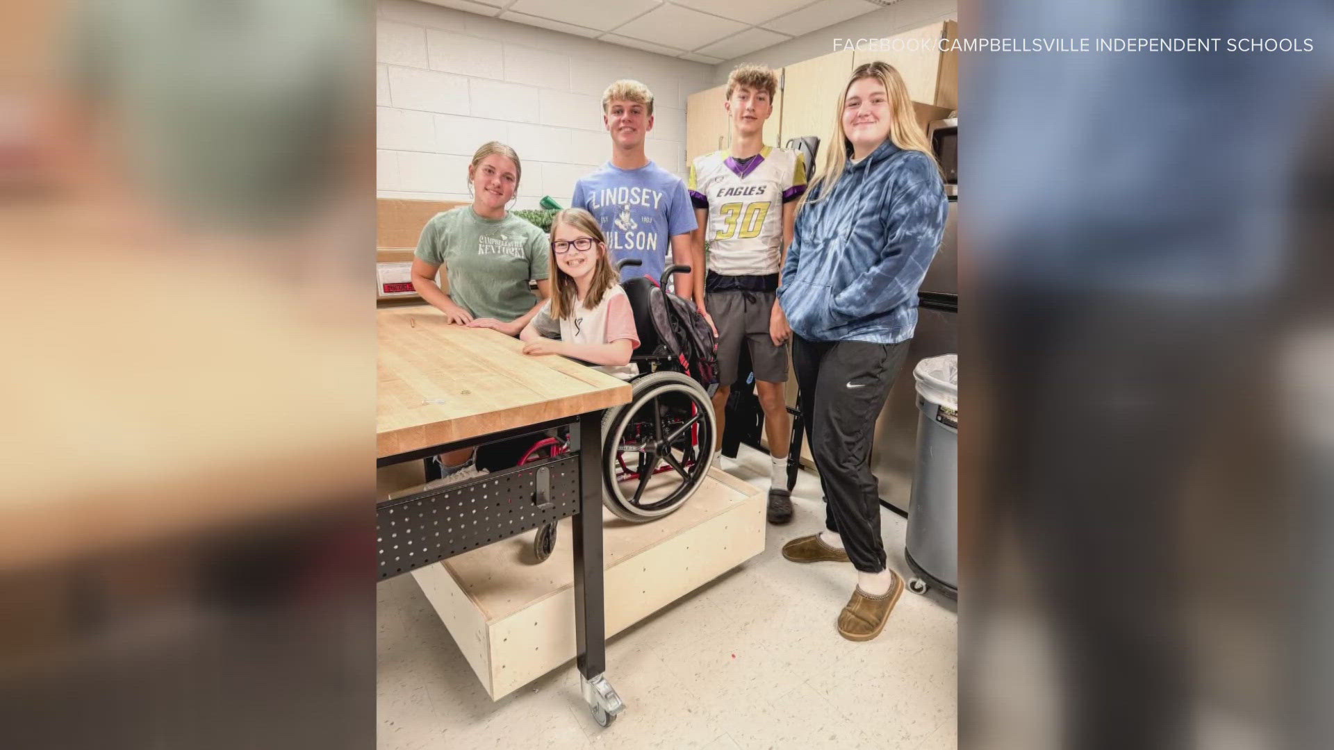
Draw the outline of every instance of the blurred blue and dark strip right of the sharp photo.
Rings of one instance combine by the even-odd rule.
[[[1331,7],[959,21],[1223,40],[963,56],[960,746],[1327,747]]]

